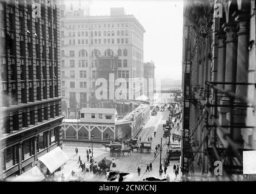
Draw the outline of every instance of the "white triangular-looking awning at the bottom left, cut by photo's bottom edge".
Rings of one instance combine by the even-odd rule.
[[[38,182],[44,179],[44,175],[38,169],[37,166],[34,166],[32,169],[27,170],[20,176],[13,179],[13,182]]]

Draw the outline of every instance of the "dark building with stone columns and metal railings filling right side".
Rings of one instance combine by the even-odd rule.
[[[184,1],[183,25],[183,181],[253,179],[243,151],[256,149],[255,1]]]

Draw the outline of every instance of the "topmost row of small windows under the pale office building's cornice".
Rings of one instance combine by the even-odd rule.
[[[94,32],[90,32],[90,36],[101,36],[102,33],[101,31],[94,31]],[[116,33],[114,30],[112,31],[104,31],[103,32],[103,36],[128,36],[128,30],[117,30]],[[61,31],[61,36],[64,36],[64,31]],[[76,36],[76,32],[69,32],[69,37],[75,37]],[[81,36],[89,36],[89,32],[77,32],[77,36],[81,37]]]

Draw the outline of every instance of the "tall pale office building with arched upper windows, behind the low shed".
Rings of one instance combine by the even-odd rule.
[[[143,95],[145,30],[135,16],[125,15],[124,8],[111,8],[109,16],[86,16],[84,10],[70,11],[66,4],[60,12],[62,110],[93,107],[96,79],[109,78],[102,74],[106,64],[114,79],[131,78],[130,98]]]

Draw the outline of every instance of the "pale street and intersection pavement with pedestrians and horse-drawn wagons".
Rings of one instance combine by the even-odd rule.
[[[136,135],[138,139],[141,138],[141,142],[148,142],[149,137],[153,137],[153,132],[156,130],[156,136],[152,139],[151,152],[147,153],[145,151],[136,152],[134,150],[132,155],[121,157],[112,157],[110,156],[109,149],[105,149],[102,144],[93,143],[93,156],[96,162],[101,161],[106,156],[106,159],[115,159],[116,167],[110,168],[110,170],[115,171],[118,170],[120,172],[127,172],[129,175],[125,176],[124,181],[143,181],[149,176],[154,176],[155,178],[160,178],[159,169],[160,169],[160,152],[158,152],[157,157],[155,158],[154,152],[155,147],[160,144],[161,138],[163,138],[163,124],[169,118],[169,111],[166,110],[164,112],[158,112],[156,116],[150,116],[147,120],[146,124],[144,124],[143,128]],[[175,128],[175,127],[174,127]],[[172,132],[171,132],[172,133]],[[180,130],[175,132],[180,135]],[[163,138],[162,140],[162,155],[161,155],[161,163],[163,164],[164,158],[166,158],[166,149],[167,149],[167,138]],[[177,143],[178,141],[175,141]],[[170,138],[170,143],[173,143],[172,138]],[[69,181],[72,170],[76,172],[77,175],[81,175],[81,168],[78,168],[78,156],[81,156],[82,161],[86,161],[86,167],[89,167],[89,162],[87,162],[86,158],[86,149],[92,148],[92,144],[90,142],[64,142],[63,150],[69,156],[70,160],[64,165],[64,168],[61,172],[55,173],[56,179],[61,181],[60,175],[64,173],[66,181]],[[75,147],[78,147],[78,155],[75,154]],[[147,164],[152,162],[152,171],[146,172]],[[166,174],[163,173],[161,178],[166,178],[167,175],[170,176],[170,181],[180,181],[180,174],[177,176],[175,180],[175,174],[173,173],[173,164],[179,164],[179,161],[170,161],[170,166],[167,167]],[[137,168],[141,168],[141,175],[138,176]],[[163,167],[164,168],[164,167]],[[59,176],[58,176],[59,175]],[[93,178],[93,173],[87,173],[83,177],[84,181],[107,181],[106,177],[102,177],[101,179]],[[116,181],[118,181],[116,179]]]

